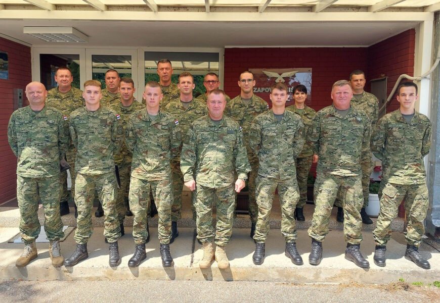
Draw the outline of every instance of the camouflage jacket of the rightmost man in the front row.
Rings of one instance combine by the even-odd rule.
[[[394,184],[422,184],[423,157],[431,147],[431,122],[416,111],[410,123],[400,109],[383,116],[373,130],[371,149],[382,160],[382,180]]]

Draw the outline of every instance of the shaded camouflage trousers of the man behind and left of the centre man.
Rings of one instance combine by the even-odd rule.
[[[171,221],[177,222],[182,219],[182,191],[184,187],[184,179],[179,162],[171,162],[171,176],[174,197],[171,206]],[[191,192],[191,211],[193,213],[193,220],[196,221],[196,209],[194,208],[196,195],[194,193],[195,190]]]

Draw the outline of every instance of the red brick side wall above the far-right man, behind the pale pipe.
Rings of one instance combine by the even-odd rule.
[[[414,76],[414,51],[416,31],[407,30],[368,47],[368,78],[387,79],[387,96],[401,74]],[[409,81],[403,80],[402,82]],[[386,106],[386,112],[399,108],[395,94]]]

